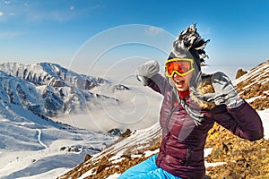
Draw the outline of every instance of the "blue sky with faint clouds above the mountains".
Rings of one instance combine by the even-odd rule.
[[[141,24],[152,30],[152,39],[162,30],[167,36],[153,43],[169,51],[173,41],[170,37],[196,23],[200,35],[211,39],[206,47],[208,64],[255,67],[269,59],[268,9],[267,0],[0,0],[0,60],[24,64],[46,61],[65,66],[73,63],[77,64],[76,71],[87,61],[89,70],[89,62],[94,62],[96,56],[87,55],[80,63],[74,60],[89,43],[85,51],[98,51],[108,42],[117,46],[117,40],[127,36],[134,41],[137,38],[140,45],[144,43],[144,34],[134,32],[143,30],[134,30],[132,25],[122,35],[118,30],[108,34],[109,30]],[[151,40],[145,44],[151,44]],[[127,58],[128,51],[132,51],[131,57],[165,60],[167,56],[129,44],[115,49],[110,57],[108,53],[103,62],[117,62],[117,54],[122,53],[126,55],[120,58]]]

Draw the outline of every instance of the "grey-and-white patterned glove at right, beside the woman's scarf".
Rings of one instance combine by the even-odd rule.
[[[197,98],[207,102],[214,102],[216,105],[226,105],[229,108],[239,107],[244,103],[244,100],[239,97],[229,77],[223,72],[215,72],[211,77],[214,93],[204,95],[198,94],[194,89],[191,89]]]

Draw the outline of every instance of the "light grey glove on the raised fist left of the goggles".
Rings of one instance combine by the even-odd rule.
[[[148,80],[152,78],[152,76],[157,74],[159,71],[160,64],[155,60],[151,60],[146,62],[145,64],[138,66],[135,71],[135,76],[138,81],[142,82],[143,86],[147,86]]]

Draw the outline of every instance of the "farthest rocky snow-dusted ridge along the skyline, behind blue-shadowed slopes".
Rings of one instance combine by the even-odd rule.
[[[81,90],[91,90],[91,88],[101,83],[109,83],[107,80],[78,74],[77,72],[62,67],[60,64],[53,63],[2,63],[0,64],[0,70],[22,80],[33,82],[36,85],[48,85],[53,87],[68,85]]]

